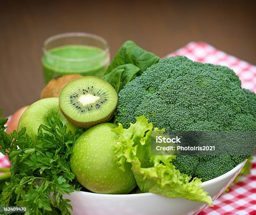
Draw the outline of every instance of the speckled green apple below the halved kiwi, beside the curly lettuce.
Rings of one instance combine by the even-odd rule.
[[[73,145],[71,170],[78,182],[92,192],[126,194],[136,187],[131,165],[127,163],[123,171],[113,158],[118,135],[111,130],[115,127],[112,123],[93,126]]]

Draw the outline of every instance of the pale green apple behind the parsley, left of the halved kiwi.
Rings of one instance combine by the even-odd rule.
[[[57,116],[61,122],[67,125],[67,131],[75,132],[77,127],[71,124],[59,109],[59,98],[40,99],[31,104],[21,115],[18,123],[18,132],[26,127],[26,133],[33,138],[37,134],[41,124],[48,125],[47,117]]]

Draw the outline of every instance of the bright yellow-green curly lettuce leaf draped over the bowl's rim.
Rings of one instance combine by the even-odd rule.
[[[201,187],[201,180],[179,172],[170,156],[151,156],[151,131],[153,124],[145,116],[124,129],[121,124],[112,131],[119,135],[115,146],[115,159],[121,169],[125,162],[132,164],[132,171],[142,192],[152,192],[166,197],[184,197],[188,200],[212,205],[212,199]],[[158,130],[157,128],[154,130]]]

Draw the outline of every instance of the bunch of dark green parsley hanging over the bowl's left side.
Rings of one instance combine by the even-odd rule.
[[[53,116],[48,118],[49,126],[39,127],[33,141],[26,128],[11,135],[5,133],[6,121],[0,121],[0,152],[12,160],[11,180],[3,187],[0,205],[28,207],[26,214],[41,215],[54,207],[62,214],[71,214],[72,206],[63,195],[80,188],[70,171],[69,156],[82,130],[67,133],[67,126]]]

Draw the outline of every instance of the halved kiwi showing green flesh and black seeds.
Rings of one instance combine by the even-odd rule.
[[[82,128],[107,121],[117,101],[118,95],[113,86],[95,76],[69,82],[59,95],[59,106],[64,116]]]

